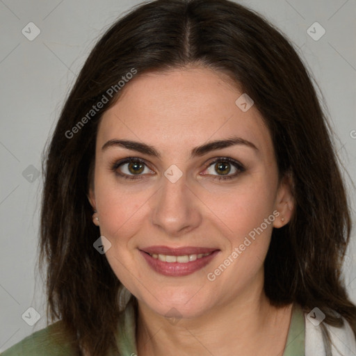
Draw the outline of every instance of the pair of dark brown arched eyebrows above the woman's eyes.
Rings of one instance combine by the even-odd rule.
[[[232,137],[227,138],[226,140],[211,141],[209,143],[205,143],[204,145],[193,148],[191,152],[191,158],[195,156],[204,156],[204,154],[207,154],[211,151],[215,151],[216,149],[223,149],[234,145],[245,145],[254,149],[254,151],[259,150],[252,142],[248,140],[245,140],[240,137]],[[132,151],[140,152],[142,154],[161,158],[161,154],[154,146],[147,145],[145,143],[140,143],[137,141],[116,139],[108,140],[108,142],[103,145],[102,151],[105,151],[109,147],[123,147],[126,149],[131,149]]]

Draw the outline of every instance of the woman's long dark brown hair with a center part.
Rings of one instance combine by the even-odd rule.
[[[120,97],[118,81],[133,69],[139,76],[190,65],[228,74],[252,97],[273,139],[279,175],[293,181],[293,216],[273,229],[264,261],[271,305],[318,307],[325,323],[341,326],[345,318],[356,332],[356,307],[341,275],[351,221],[332,129],[285,35],[227,0],[144,3],[115,22],[88,56],[43,159],[40,267],[47,264],[47,318],[60,319],[78,355],[84,348],[91,356],[116,350],[122,284],[92,246],[100,234],[88,201],[98,123]],[[112,97],[109,88],[115,88]],[[103,95],[108,102],[91,112]]]

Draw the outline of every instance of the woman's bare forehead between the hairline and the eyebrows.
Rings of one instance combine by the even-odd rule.
[[[126,138],[182,151],[239,136],[268,151],[270,134],[257,108],[236,105],[243,94],[226,74],[202,67],[138,74],[104,113],[97,143]]]

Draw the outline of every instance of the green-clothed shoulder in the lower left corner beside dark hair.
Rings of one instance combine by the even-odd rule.
[[[19,341],[1,356],[59,356],[75,355],[68,337],[63,333],[60,321],[34,332],[29,337]]]

